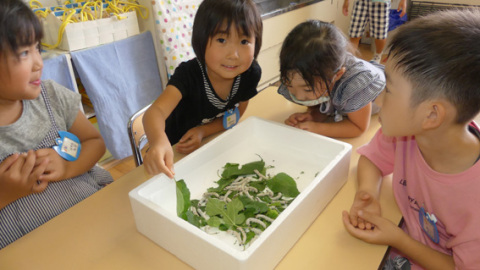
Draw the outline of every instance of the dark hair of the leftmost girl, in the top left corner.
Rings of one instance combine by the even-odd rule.
[[[16,52],[43,37],[40,21],[22,0],[0,1],[0,25],[0,53]]]

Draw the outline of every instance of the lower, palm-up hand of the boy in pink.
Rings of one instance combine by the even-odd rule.
[[[395,245],[399,241],[404,232],[398,226],[396,226],[390,220],[383,218],[379,214],[370,213],[367,211],[358,211],[356,214],[359,218],[373,224],[374,227],[371,230],[362,230],[354,226],[350,222],[350,216],[347,211],[343,211],[343,225],[345,229],[356,238],[363,240],[367,243],[377,245]]]

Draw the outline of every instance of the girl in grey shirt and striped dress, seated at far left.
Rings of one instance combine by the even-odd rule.
[[[21,0],[0,1],[0,248],[112,181],[80,95],[41,81],[42,26]]]

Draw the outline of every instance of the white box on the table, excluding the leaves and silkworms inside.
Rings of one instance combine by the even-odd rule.
[[[272,269],[346,182],[351,149],[341,141],[250,117],[175,163],[175,173],[192,199],[216,186],[227,162],[261,157],[274,166],[267,173],[293,177],[300,194],[260,237],[244,249],[233,236],[208,234],[177,217],[175,183],[163,174],[129,193],[137,229],[196,269]]]

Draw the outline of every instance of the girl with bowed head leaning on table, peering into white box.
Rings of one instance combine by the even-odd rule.
[[[373,101],[385,87],[383,66],[351,53],[335,25],[309,20],[297,25],[280,51],[278,93],[307,107],[290,115],[287,125],[336,138],[362,135]]]

